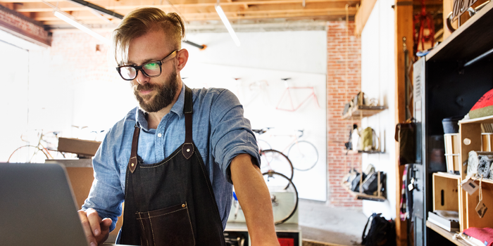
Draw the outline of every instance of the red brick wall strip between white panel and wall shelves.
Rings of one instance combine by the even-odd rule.
[[[361,91],[361,38],[354,36],[354,21],[327,22],[327,171],[329,204],[337,207],[361,207],[340,185],[351,167],[361,170],[361,155],[346,155],[344,142],[352,124],[361,121],[342,119],[344,104]],[[348,38],[349,37],[349,38]],[[346,76],[347,52],[347,76]]]

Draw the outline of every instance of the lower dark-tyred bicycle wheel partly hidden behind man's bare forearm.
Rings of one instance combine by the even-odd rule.
[[[298,190],[291,179],[275,171],[263,173],[270,193],[276,225],[286,222],[298,208]]]

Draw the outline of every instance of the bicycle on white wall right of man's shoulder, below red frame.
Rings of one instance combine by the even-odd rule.
[[[268,128],[270,129],[270,128]],[[261,134],[265,133],[262,132]],[[287,151],[287,159],[292,163],[293,169],[297,169],[298,171],[308,171],[315,167],[318,162],[318,150],[313,145],[305,140],[299,140],[304,134],[304,130],[298,130],[299,135],[297,134],[277,134],[273,136],[288,136],[291,138],[291,141],[286,145],[286,147],[281,150],[275,150],[277,152],[286,153]],[[287,175],[289,176],[289,175]]]

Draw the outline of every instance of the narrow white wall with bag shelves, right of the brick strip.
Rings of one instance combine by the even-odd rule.
[[[361,33],[361,90],[369,98],[377,98],[387,110],[361,121],[362,127],[372,127],[385,147],[383,154],[363,154],[363,170],[373,164],[387,173],[387,200],[363,201],[363,213],[382,213],[387,219],[396,217],[396,171],[394,140],[394,10],[392,0],[378,0]]]

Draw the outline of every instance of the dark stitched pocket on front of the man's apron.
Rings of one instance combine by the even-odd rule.
[[[195,245],[187,203],[149,212],[137,212],[142,245]]]

